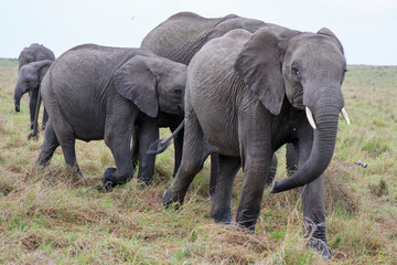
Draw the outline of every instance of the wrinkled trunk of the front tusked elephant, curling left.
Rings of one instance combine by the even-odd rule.
[[[343,97],[342,97],[343,98]],[[334,102],[333,104],[330,104]],[[322,104],[321,102],[326,103]],[[273,183],[271,193],[287,191],[293,188],[309,184],[319,178],[331,162],[336,141],[339,113],[341,112],[342,100],[330,97],[321,98],[316,102],[313,112],[316,129],[314,129],[314,141],[308,161],[303,167],[290,178]],[[320,103],[320,104],[319,104]]]

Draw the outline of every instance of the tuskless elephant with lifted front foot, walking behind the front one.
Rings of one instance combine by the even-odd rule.
[[[105,188],[127,182],[133,176],[133,125],[139,128],[140,155],[144,155],[159,137],[159,114],[182,115],[185,82],[184,64],[146,50],[95,44],[68,50],[42,82],[41,95],[50,121],[39,165],[46,165],[61,145],[67,166],[79,172],[75,139],[105,139],[117,167],[105,170]],[[144,159],[140,163],[154,167]]]

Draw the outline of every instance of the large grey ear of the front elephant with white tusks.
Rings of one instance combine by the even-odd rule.
[[[282,56],[294,31],[268,24],[256,31],[237,55],[234,68],[264,106],[279,115],[285,97]]]

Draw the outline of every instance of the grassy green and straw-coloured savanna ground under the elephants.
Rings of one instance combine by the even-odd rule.
[[[267,190],[255,234],[236,232],[208,216],[205,163],[184,206],[165,211],[161,194],[172,181],[173,148],[158,157],[155,181],[147,189],[136,179],[112,192],[101,189],[103,171],[114,167],[104,141],[77,142],[84,183],[66,169],[61,148],[47,168],[36,168],[43,135],[26,140],[26,95],[21,113],[14,112],[17,63],[0,60],[1,264],[397,264],[397,67],[348,66],[343,93],[352,125],[340,120],[326,170],[326,232],[334,252],[326,261],[305,247],[297,190]],[[283,152],[279,180],[286,177]],[[234,214],[240,183],[239,172]]]

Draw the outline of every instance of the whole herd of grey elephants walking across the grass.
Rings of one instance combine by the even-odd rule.
[[[159,127],[174,138],[174,180],[165,206],[180,205],[211,155],[211,216],[230,224],[235,176],[244,171],[235,223],[254,230],[264,190],[301,189],[309,247],[330,257],[324,216],[324,176],[344,110],[341,86],[346,61],[329,29],[300,32],[229,14],[207,19],[181,12],[154,28],[139,49],[75,46],[55,60],[43,45],[19,57],[15,110],[30,94],[31,135],[44,103],[44,141],[37,163],[61,146],[68,167],[82,174],[75,139],[105,139],[116,168],[104,187],[154,174]],[[131,145],[132,142],[132,145]],[[164,144],[164,141],[161,141]],[[287,146],[289,177],[273,181],[277,151]]]

